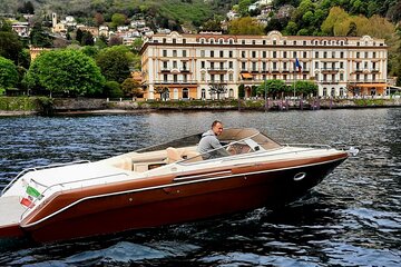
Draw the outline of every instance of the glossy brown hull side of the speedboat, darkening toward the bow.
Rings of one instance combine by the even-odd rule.
[[[241,167],[231,169],[229,175],[203,178],[170,176],[154,186],[99,189],[97,195],[63,194],[51,201],[53,207],[26,218],[21,227],[33,240],[46,243],[193,221],[258,207],[274,208],[305,195],[346,157],[343,154],[322,162],[275,169]],[[227,170],[217,172],[224,171]],[[85,194],[91,197],[75,202]],[[46,218],[62,206],[68,208]]]

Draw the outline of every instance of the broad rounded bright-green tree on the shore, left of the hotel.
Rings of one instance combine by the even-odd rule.
[[[50,93],[69,96],[101,91],[105,78],[92,58],[78,50],[46,51],[31,63],[26,81],[29,88],[43,88]]]

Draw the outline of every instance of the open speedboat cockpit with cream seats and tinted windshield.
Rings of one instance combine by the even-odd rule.
[[[115,167],[144,172],[173,162],[188,165],[215,158],[246,155],[282,147],[280,144],[256,129],[228,128],[217,137],[223,148],[207,151],[206,157],[206,154],[199,154],[196,149],[200,138],[202,134],[192,135],[107,160],[113,160]]]

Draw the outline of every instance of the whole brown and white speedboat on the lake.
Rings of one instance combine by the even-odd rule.
[[[294,201],[349,156],[326,145],[282,145],[253,128],[202,134],[99,161],[22,170],[0,197],[0,239],[51,243],[182,224]],[[206,159],[207,158],[207,159]]]

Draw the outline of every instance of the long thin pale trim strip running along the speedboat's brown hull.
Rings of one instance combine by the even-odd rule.
[[[197,182],[205,182],[205,181],[212,181],[212,180],[219,180],[219,179],[227,179],[227,178],[234,178],[234,177],[238,177],[238,176],[250,176],[250,175],[258,175],[258,174],[263,174],[263,172],[273,172],[273,171],[280,171],[280,170],[286,170],[286,169],[296,169],[296,168],[303,168],[303,167],[311,167],[311,166],[316,166],[316,165],[322,165],[322,164],[330,164],[330,162],[334,162],[338,160],[343,160],[346,159],[345,158],[338,158],[338,159],[332,159],[332,160],[327,160],[327,161],[321,161],[319,164],[310,164],[310,165],[302,165],[302,166],[294,166],[294,167],[288,167],[288,168],[278,168],[278,169],[271,169],[271,170],[260,170],[260,171],[253,171],[253,172],[246,172],[246,174],[237,174],[237,175],[231,175],[231,176],[219,176],[219,177],[215,177],[215,178],[207,178],[207,179],[202,179],[202,180],[189,180],[189,181],[184,181],[184,182],[177,182],[177,184],[169,184],[169,185],[162,185],[162,186],[155,186],[155,187],[146,187],[146,188],[139,188],[139,189],[133,189],[133,190],[126,190],[126,191],[118,191],[118,192],[110,192],[110,194],[102,194],[102,195],[96,195],[96,196],[89,196],[89,197],[85,197],[81,199],[78,199],[77,201],[63,207],[62,209],[57,210],[53,214],[50,214],[43,218],[41,218],[40,220],[37,220],[32,224],[27,224],[27,225],[21,225],[22,228],[28,228],[31,226],[36,226],[45,220],[50,219],[51,217],[55,217],[56,215],[86,200],[90,200],[90,199],[95,199],[95,198],[102,198],[102,197],[110,197],[110,196],[118,196],[118,195],[125,195],[125,194],[131,194],[131,192],[140,192],[140,191],[147,191],[147,190],[154,190],[154,189],[163,189],[166,187],[178,187],[178,186],[183,186],[183,185],[190,185],[190,184],[197,184]],[[21,224],[22,219],[20,220]]]

